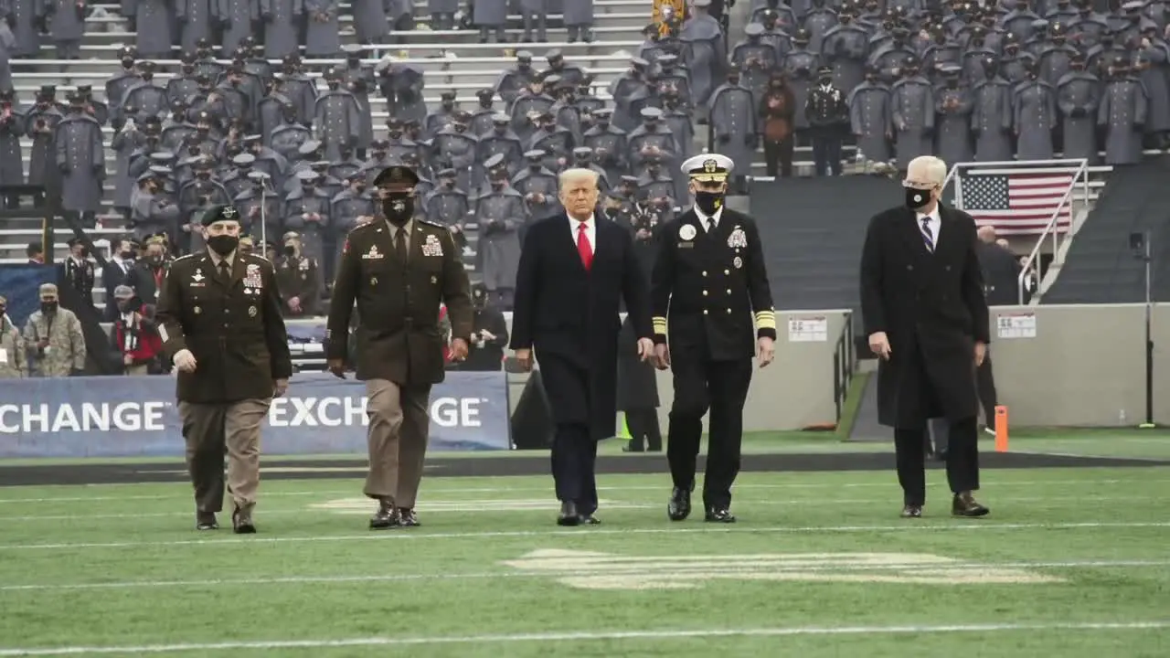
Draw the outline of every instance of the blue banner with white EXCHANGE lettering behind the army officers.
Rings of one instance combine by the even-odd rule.
[[[431,389],[432,451],[510,450],[503,372],[448,372]],[[264,454],[366,454],[365,384],[295,375],[273,400]],[[0,381],[0,458],[183,457],[174,379]]]

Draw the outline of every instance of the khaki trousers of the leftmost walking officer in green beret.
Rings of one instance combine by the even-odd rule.
[[[183,438],[187,444],[187,472],[195,489],[195,508],[202,514],[223,509],[223,455],[227,454],[227,491],[236,507],[256,505],[260,487],[260,426],[271,398],[223,404],[179,403]]]

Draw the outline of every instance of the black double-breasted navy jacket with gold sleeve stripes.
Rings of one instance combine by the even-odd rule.
[[[708,233],[691,208],[662,225],[651,309],[654,342],[669,336],[673,357],[750,359],[757,337],[775,341],[776,311],[756,221],[724,207]]]

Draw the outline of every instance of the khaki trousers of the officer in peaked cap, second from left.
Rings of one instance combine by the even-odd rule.
[[[363,492],[411,509],[419,495],[431,430],[431,384],[366,381],[370,473]]]

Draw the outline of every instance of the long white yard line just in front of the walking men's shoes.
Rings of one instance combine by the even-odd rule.
[[[1150,522],[1082,522],[1082,523],[987,523],[980,520],[969,520],[962,522],[957,520],[954,525],[923,525],[907,521],[899,526],[797,526],[797,527],[706,527],[706,528],[613,528],[613,529],[572,529],[572,530],[508,530],[488,533],[413,533],[410,530],[392,530],[386,533],[366,533],[362,535],[333,535],[333,536],[303,536],[303,537],[271,537],[271,536],[248,536],[228,537],[222,540],[176,540],[176,541],[142,541],[142,542],[80,542],[80,543],[8,543],[0,544],[0,550],[73,550],[81,548],[160,548],[167,546],[239,546],[241,543],[250,546],[276,544],[276,543],[310,543],[310,542],[351,542],[351,541],[395,541],[395,540],[456,540],[456,539],[490,539],[490,537],[553,537],[553,536],[591,536],[591,535],[683,535],[683,534],[717,534],[717,533],[923,533],[923,532],[950,532],[950,530],[1076,530],[1076,529],[1101,529],[1101,528],[1170,528],[1170,521]],[[193,530],[192,530],[193,532]]]

